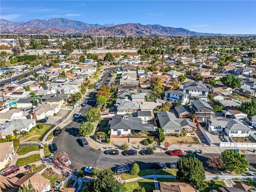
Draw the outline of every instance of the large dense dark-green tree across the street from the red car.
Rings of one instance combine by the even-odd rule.
[[[205,171],[203,163],[196,157],[180,158],[177,161],[176,179],[180,182],[193,183],[197,190],[203,190],[206,187],[204,183]]]

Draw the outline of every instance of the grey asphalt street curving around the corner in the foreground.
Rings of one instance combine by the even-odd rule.
[[[116,68],[116,67],[114,67]],[[103,79],[100,85],[106,83],[106,80],[110,79],[109,75],[114,70],[114,68],[108,68],[108,72],[106,73],[105,78]],[[81,136],[78,133],[78,128],[80,124],[85,121],[84,114],[87,112],[89,108],[94,106],[95,104],[95,94],[97,90],[94,90],[94,94],[91,98],[88,98],[88,104],[86,107],[81,108],[79,112],[81,112],[81,116],[78,119],[74,119],[70,124],[64,127],[62,130],[62,134],[58,137],[54,137],[53,143],[56,143],[58,146],[58,152],[66,152],[70,156],[70,161],[72,162],[70,168],[73,170],[80,170],[82,167],[86,166],[95,166],[98,168],[110,167],[114,170],[116,166],[131,166],[134,162],[138,163],[140,166],[140,170],[149,169],[150,163],[152,162],[162,162],[166,163],[169,167],[170,163],[176,162],[178,158],[177,156],[170,156],[168,152],[155,152],[154,155],[146,155],[142,156],[141,154],[137,154],[136,156],[124,156],[119,154],[118,156],[111,156],[104,154],[104,151],[98,151],[90,146],[82,147],[80,146],[78,140]],[[197,154],[198,157],[204,164],[206,170],[209,169],[206,161],[211,156],[219,156],[220,154]],[[189,156],[186,154],[185,156]],[[250,154],[247,155],[247,160],[250,162],[250,169],[256,170],[256,155]]]

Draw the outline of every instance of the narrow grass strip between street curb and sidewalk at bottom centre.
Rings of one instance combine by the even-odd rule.
[[[146,170],[140,171],[138,176],[145,176],[145,175],[176,175],[176,170]],[[121,175],[122,180],[132,179],[138,177],[137,175],[125,174]]]

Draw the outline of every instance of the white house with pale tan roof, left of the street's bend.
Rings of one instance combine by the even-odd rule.
[[[33,109],[33,118],[40,120],[46,116],[54,116],[54,113],[60,111],[60,105],[58,104],[42,104]]]

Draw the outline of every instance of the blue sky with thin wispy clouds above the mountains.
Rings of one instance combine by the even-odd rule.
[[[92,24],[160,24],[196,32],[256,34],[256,1],[1,0],[0,18],[12,22],[67,18]]]

